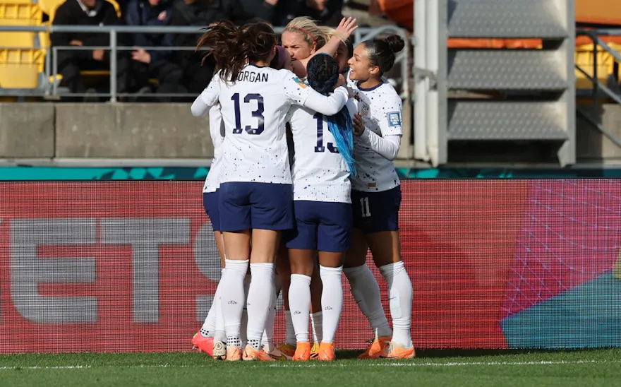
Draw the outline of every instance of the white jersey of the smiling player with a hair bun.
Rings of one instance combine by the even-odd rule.
[[[366,129],[382,137],[403,136],[402,101],[390,83],[380,83],[370,89],[356,86],[353,91]],[[356,191],[387,191],[399,185],[392,161],[357,138],[354,142],[354,158],[358,177],[352,183]]]

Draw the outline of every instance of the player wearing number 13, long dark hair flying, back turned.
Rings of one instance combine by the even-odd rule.
[[[291,105],[332,115],[348,93],[330,97],[304,85],[294,73],[267,67],[275,56],[276,34],[265,23],[243,29],[224,21],[208,30],[199,47],[209,48],[218,75],[194,101],[200,116],[219,102],[227,135],[220,171],[219,215],[227,251],[222,274],[222,312],[227,331],[227,360],[271,361],[261,337],[272,304],[274,258],[282,230],[294,225],[291,172],[284,119]],[[252,250],[251,250],[252,244]],[[248,290],[248,345],[239,333],[244,302],[243,278],[251,266]]]

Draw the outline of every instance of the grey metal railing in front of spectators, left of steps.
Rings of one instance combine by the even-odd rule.
[[[283,27],[274,28],[277,34],[282,33],[284,30]],[[120,94],[117,91],[116,85],[116,76],[118,73],[117,68],[117,59],[119,51],[131,51],[135,50],[135,46],[126,47],[119,46],[118,35],[119,34],[132,34],[132,33],[161,33],[161,34],[195,34],[200,35],[204,32],[204,30],[197,28],[195,26],[191,27],[174,27],[174,26],[164,26],[164,27],[153,27],[153,26],[129,26],[129,25],[103,25],[103,26],[78,26],[78,25],[49,25],[49,26],[28,26],[28,25],[0,25],[0,33],[1,32],[91,32],[91,33],[102,33],[109,35],[109,46],[99,46],[99,47],[83,47],[83,46],[62,46],[62,47],[9,47],[9,48],[28,48],[28,49],[46,49],[48,50],[45,58],[45,71],[44,77],[45,81],[43,85],[40,85],[40,88],[35,90],[34,95],[42,95],[42,96],[54,96],[59,97],[60,95],[73,95],[78,96],[78,94],[71,93],[59,93],[59,85],[56,78],[58,77],[58,61],[57,61],[57,52],[59,50],[84,50],[84,49],[104,49],[109,50],[110,52],[110,63],[109,63],[109,71],[110,71],[110,92],[109,93],[100,93],[100,94],[88,94],[92,96],[105,96],[110,97],[111,102],[116,102],[117,97],[119,96],[129,96],[135,95],[135,93],[123,93]],[[386,33],[394,33],[401,36],[405,41],[408,40],[405,30],[402,28],[398,28],[392,25],[386,25],[380,28],[358,28],[354,32],[354,45],[359,42],[363,42],[364,40],[372,39],[378,35],[386,34]],[[193,47],[140,47],[148,50],[167,50],[167,51],[193,51]],[[49,50],[52,51],[52,55],[49,54]],[[406,44],[406,49],[404,52],[401,52],[397,55],[395,63],[399,63],[401,66],[401,91],[402,97],[404,99],[409,100],[409,66],[408,60],[410,57],[410,49],[409,45]],[[52,81],[50,80],[52,77]],[[18,90],[9,90],[9,93],[13,95],[20,95]],[[38,93],[37,93],[38,92]],[[28,95],[33,95],[33,93],[28,93]],[[147,96],[152,97],[183,97],[190,96],[186,94],[162,94],[162,93],[154,93]],[[195,96],[195,95],[191,95]]]

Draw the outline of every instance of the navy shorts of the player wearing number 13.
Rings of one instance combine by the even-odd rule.
[[[229,182],[219,188],[220,231],[294,227],[291,184]]]

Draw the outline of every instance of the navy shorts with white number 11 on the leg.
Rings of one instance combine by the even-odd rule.
[[[365,234],[399,230],[401,186],[388,191],[351,191],[354,227]]]

